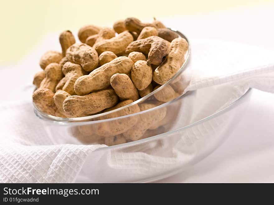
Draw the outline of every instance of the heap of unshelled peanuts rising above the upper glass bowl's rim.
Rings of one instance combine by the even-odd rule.
[[[32,97],[46,114],[83,117],[128,105],[174,76],[188,50],[184,38],[156,19],[126,18],[113,28],[87,25],[78,38],[81,43],[72,32],[62,32],[62,53],[48,51],[40,59],[43,71],[35,74]],[[167,102],[178,96],[171,86],[165,92],[155,98]]]

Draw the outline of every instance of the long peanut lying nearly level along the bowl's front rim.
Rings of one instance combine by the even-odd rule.
[[[83,117],[116,105],[118,96],[113,89],[100,90],[88,95],[72,95],[65,99],[63,109],[69,117]]]

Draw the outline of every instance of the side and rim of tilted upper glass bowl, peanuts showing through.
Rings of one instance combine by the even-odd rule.
[[[181,32],[173,31],[189,44]],[[183,65],[168,82],[118,109],[87,117],[61,118],[41,112],[34,104],[35,114],[53,124],[69,127],[69,135],[77,138],[82,144],[111,146],[167,132],[179,113],[172,110],[181,109],[180,101],[172,103],[172,100],[185,94],[184,90],[191,79],[190,72],[186,69],[190,58],[190,45],[182,58],[185,59]]]

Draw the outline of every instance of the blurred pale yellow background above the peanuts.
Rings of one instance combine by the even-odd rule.
[[[193,15],[237,7],[256,7],[273,0],[0,0],[0,65],[14,63],[49,32],[75,30],[85,24],[109,25],[125,17]]]

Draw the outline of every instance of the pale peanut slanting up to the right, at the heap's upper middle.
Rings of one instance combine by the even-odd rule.
[[[128,31],[121,32],[118,36],[106,39],[94,44],[98,55],[104,51],[112,51],[117,56],[125,53],[126,47],[133,41],[132,35]]]

